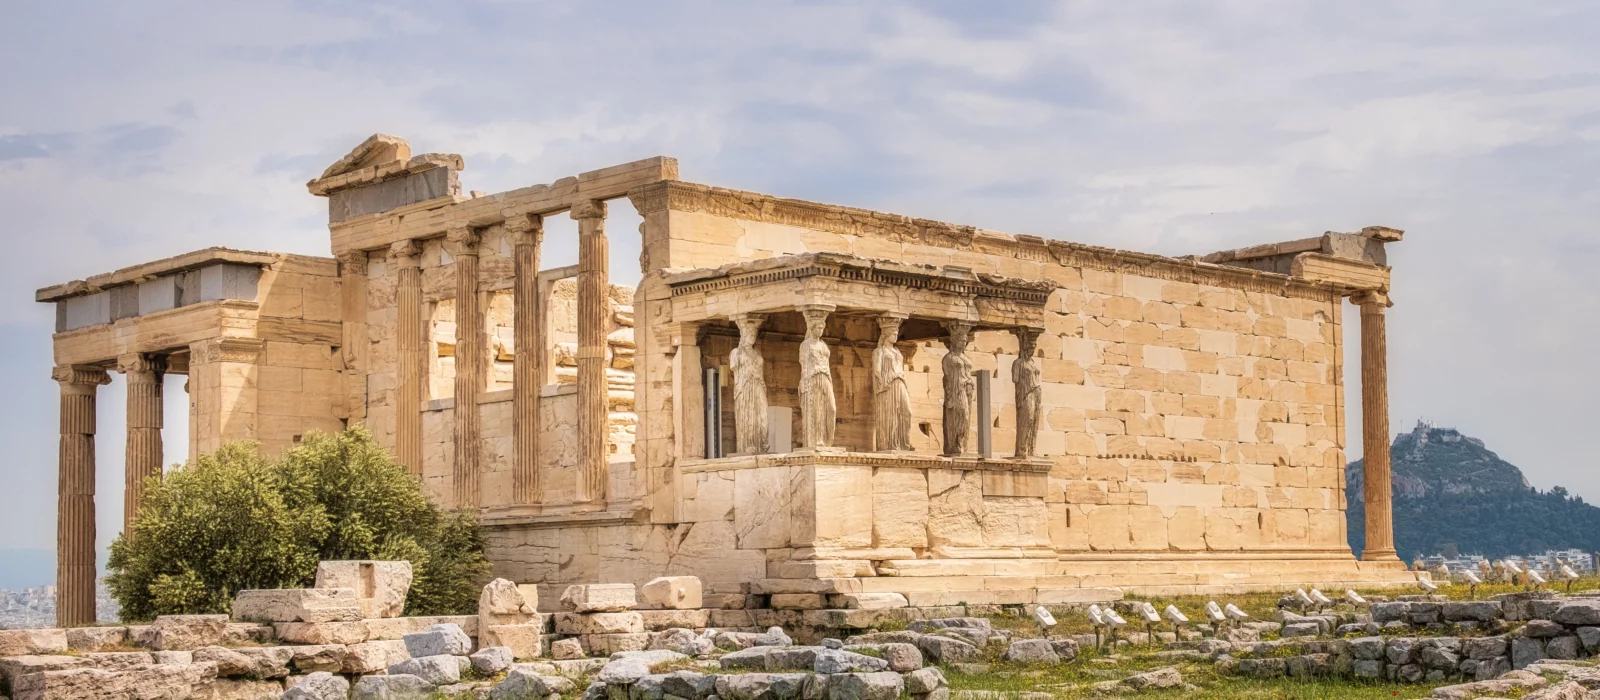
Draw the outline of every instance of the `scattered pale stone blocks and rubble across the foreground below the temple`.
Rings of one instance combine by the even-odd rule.
[[[1445,700],[1600,697],[1600,668],[1574,663],[1600,655],[1600,598],[1549,591],[1400,596],[1366,612],[1320,614],[1293,612],[1286,599],[1277,620],[1150,625],[1101,639],[1014,638],[966,614],[997,612],[981,606],[866,598],[846,609],[702,609],[693,577],[642,587],[654,609],[640,609],[634,585],[590,583],[568,587],[565,609],[541,614],[534,587],[496,579],[477,615],[400,617],[410,582],[405,563],[322,563],[315,588],[240,591],[232,615],[0,630],[0,700],[547,700],[579,690],[582,700],[950,700],[939,666],[981,673],[994,657],[1069,663],[1101,642],[1117,647],[1117,657],[1098,660],[1107,662],[1152,641],[1166,644],[1146,658],[1208,662],[1251,678],[1454,681],[1434,690]],[[1138,603],[1117,606],[1131,612]],[[885,623],[904,630],[877,630]],[[1181,687],[1192,689],[1168,666],[1093,690]]]

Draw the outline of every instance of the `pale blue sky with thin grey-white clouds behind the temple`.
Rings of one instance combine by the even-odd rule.
[[[323,5],[6,10],[0,548],[54,543],[34,289],[211,245],[325,254],[304,182],[374,131],[466,155],[488,192],[664,153],[690,181],[1163,254],[1406,229],[1395,430],[1459,427],[1600,500],[1594,3]],[[109,542],[120,382],[101,417]]]

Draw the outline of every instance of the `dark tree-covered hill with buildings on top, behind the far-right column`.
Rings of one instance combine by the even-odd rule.
[[[1389,447],[1395,550],[1419,555],[1528,555],[1568,547],[1600,551],[1600,508],[1557,486],[1539,492],[1482,439],[1419,422]],[[1350,548],[1366,543],[1362,460],[1346,476]]]

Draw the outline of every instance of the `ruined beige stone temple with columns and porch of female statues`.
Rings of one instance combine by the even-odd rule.
[[[1162,257],[683,182],[672,158],[493,195],[462,195],[462,168],[374,136],[309,184],[331,257],[206,249],[38,291],[62,623],[93,618],[112,376],[130,518],[184,457],[160,449],[162,376],[184,374],[187,457],[365,425],[440,503],[480,510],[518,583],[693,574],[730,604],[922,606],[1408,580],[1376,478],[1398,230]],[[618,206],[637,233],[606,230]],[[544,268],[557,216],[578,264]],[[613,235],[642,237],[637,288],[611,284]]]

